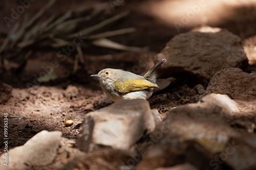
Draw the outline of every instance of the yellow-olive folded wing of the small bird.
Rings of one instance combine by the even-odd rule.
[[[115,82],[115,89],[120,93],[129,93],[132,91],[145,90],[149,87],[158,87],[158,85],[145,79],[132,79],[121,82]]]

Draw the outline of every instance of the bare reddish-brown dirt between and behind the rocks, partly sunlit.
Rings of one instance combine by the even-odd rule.
[[[47,15],[51,16],[55,12],[62,14],[69,8],[86,6],[92,2],[98,3],[81,0],[57,1]],[[44,1],[35,1],[26,9],[25,13],[29,15],[34,14],[44,3]],[[65,61],[57,60],[59,66],[53,70],[57,75],[57,79],[41,82],[40,84],[34,83],[34,80],[36,80],[35,75],[44,71],[42,67],[49,65],[53,59],[56,59],[58,50],[34,50],[31,57],[27,60],[27,64],[19,70],[12,69],[11,63],[7,64],[7,68],[1,68],[0,81],[12,86],[10,99],[8,102],[0,105],[1,124],[4,118],[3,113],[8,113],[8,116],[22,116],[9,118],[8,120],[9,149],[23,145],[42,130],[61,131],[63,137],[76,140],[84,115],[112,103],[103,94],[99,82],[91,78],[90,75],[97,74],[99,70],[107,67],[132,71],[133,66],[138,65],[140,59],[143,59],[146,65],[136,70],[136,74],[143,74],[143,72],[153,66],[156,59],[155,56],[161,52],[165,44],[172,37],[179,33],[187,32],[196,26],[203,25],[203,23],[195,22],[184,26],[178,32],[173,25],[170,25],[164,18],[161,18],[162,15],[156,15],[154,10],[150,12],[153,6],[151,3],[147,3],[147,1],[124,1],[120,6],[116,6],[115,10],[111,11],[112,13],[108,14],[114,15],[124,10],[131,10],[131,14],[116,23],[116,25],[112,25],[111,28],[115,30],[135,27],[137,31],[114,36],[110,39],[127,46],[149,47],[150,50],[147,52],[126,52],[90,45],[88,48],[82,49],[86,62],[79,64],[76,72],[73,72],[75,57],[71,55]],[[18,1],[5,1],[1,3],[0,18],[10,16],[11,9],[15,9],[19,5]],[[250,38],[251,43],[249,45],[254,45],[254,48],[256,48],[256,38],[253,38],[256,34],[255,8],[248,7],[247,13],[244,13],[246,10],[236,7],[235,11],[236,13],[233,15],[223,14],[222,19],[216,19],[216,16],[212,15],[212,19],[208,18],[207,25],[228,29],[230,32],[240,36],[242,40],[246,40],[247,43],[249,42],[247,39]],[[217,11],[217,13],[219,12]],[[23,17],[24,15],[20,15],[15,22],[19,22]],[[197,17],[200,18],[201,16]],[[9,32],[13,26],[14,23],[11,23],[11,27],[8,28],[2,19],[0,33]],[[255,65],[251,65],[250,69],[252,72],[256,72]],[[206,88],[207,84],[208,82],[206,81],[203,86]],[[198,94],[196,91],[193,87],[186,85],[186,80],[183,80],[157,92],[149,102],[152,109],[158,109],[163,119],[172,108],[195,103],[197,99]],[[73,126],[65,127],[65,122],[68,119],[74,121]],[[245,129],[233,128],[248,133]],[[0,132],[3,134],[3,128],[1,128]],[[0,144],[1,153],[3,153],[2,142]]]

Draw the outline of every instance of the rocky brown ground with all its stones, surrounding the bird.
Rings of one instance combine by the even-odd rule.
[[[48,15],[88,3],[57,1]],[[113,14],[132,11],[112,28],[137,29],[110,39],[148,51],[90,46],[76,71],[74,56],[62,61],[47,49],[19,69],[5,63],[0,121],[7,118],[8,128],[0,135],[8,142],[0,144],[0,169],[256,169],[256,3],[109,3]],[[1,16],[18,6],[5,2]],[[148,101],[113,103],[90,77],[106,67],[142,75],[163,58]],[[50,80],[38,81],[42,71]]]

